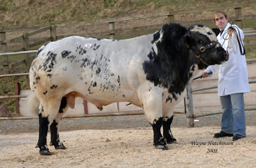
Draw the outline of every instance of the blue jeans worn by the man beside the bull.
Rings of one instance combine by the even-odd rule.
[[[223,111],[221,130],[228,134],[246,136],[243,93],[221,96],[220,102]]]

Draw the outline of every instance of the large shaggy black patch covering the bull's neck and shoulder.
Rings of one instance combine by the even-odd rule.
[[[189,68],[194,64],[189,57],[189,50],[184,45],[184,34],[188,29],[179,24],[166,24],[162,31],[163,39],[157,43],[159,31],[154,34],[152,42],[156,43],[157,53],[152,48],[148,53],[150,60],[145,60],[142,64],[143,70],[147,80],[155,86],[168,88],[170,94],[181,94],[191,77]],[[175,94],[173,99],[177,99]]]

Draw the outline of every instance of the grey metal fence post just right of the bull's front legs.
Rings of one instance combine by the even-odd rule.
[[[192,97],[192,87],[191,81],[188,83],[186,95],[186,117],[187,117],[187,127],[195,127],[194,125],[194,111],[193,111],[193,97]]]

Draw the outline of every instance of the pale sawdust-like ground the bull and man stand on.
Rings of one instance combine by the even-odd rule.
[[[150,127],[65,131],[61,139],[67,150],[50,146],[50,157],[35,148],[37,133],[8,134],[0,136],[8,143],[0,152],[0,167],[255,167],[256,127],[247,127],[247,137],[236,142],[214,139],[219,130],[175,127],[179,144],[170,144],[168,151],[153,148]]]

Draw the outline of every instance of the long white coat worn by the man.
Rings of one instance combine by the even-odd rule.
[[[236,25],[233,25],[236,26]],[[228,23],[223,33],[217,36],[218,41],[222,45],[224,38],[227,36],[227,29],[230,27]],[[236,26],[237,27],[237,26]],[[239,29],[241,35],[241,41],[243,43],[244,34]],[[237,32],[238,33],[238,32]],[[239,34],[238,34],[239,36]],[[228,40],[223,44],[223,48],[227,50]],[[219,65],[209,66],[205,71],[212,74],[220,67],[219,78],[218,78],[218,95],[230,95],[237,93],[250,92],[248,84],[248,73],[245,55],[241,55],[239,45],[237,43],[237,36],[235,32],[232,36],[228,45],[229,59],[227,62]]]

